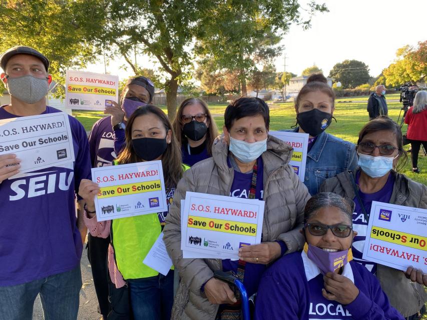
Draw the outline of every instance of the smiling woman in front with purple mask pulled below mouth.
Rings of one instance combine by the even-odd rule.
[[[349,201],[332,192],[307,201],[304,249],[281,257],[264,272],[255,319],[403,320],[375,276],[351,259],[357,236],[352,211]]]

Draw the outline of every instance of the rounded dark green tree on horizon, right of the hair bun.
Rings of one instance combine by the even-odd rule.
[[[370,75],[364,62],[353,59],[336,63],[330,70],[329,77],[341,82],[343,89],[348,89],[367,83]]]

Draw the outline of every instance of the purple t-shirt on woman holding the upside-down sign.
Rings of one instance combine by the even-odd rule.
[[[356,173],[356,184],[359,184],[360,170]],[[363,207],[369,215],[372,201],[380,201],[388,203],[390,201],[391,193],[393,192],[394,176],[390,173],[381,190],[374,193],[364,193],[359,189],[359,196],[362,200]],[[376,263],[362,259],[363,247],[365,245],[366,230],[368,222],[366,221],[362,209],[360,208],[357,197],[353,199],[356,206],[353,212],[353,230],[357,231],[357,235],[353,239],[353,246],[351,251],[353,253],[354,261],[359,262],[366,266],[366,268],[373,274],[376,273]]]

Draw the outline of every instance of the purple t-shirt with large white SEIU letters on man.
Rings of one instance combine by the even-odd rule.
[[[47,106],[45,113],[61,112]],[[17,117],[0,107],[0,119]],[[76,193],[91,178],[83,125],[69,116],[76,161],[21,173],[0,183],[0,286],[69,271],[80,263]]]

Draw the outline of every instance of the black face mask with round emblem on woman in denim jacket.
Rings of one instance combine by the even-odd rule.
[[[299,112],[296,116],[296,121],[304,130],[312,136],[317,136],[322,133],[332,121],[332,114],[312,109],[310,111]]]

